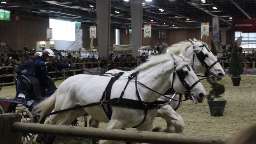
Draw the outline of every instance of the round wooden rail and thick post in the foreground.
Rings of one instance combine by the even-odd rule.
[[[1,144],[20,143],[21,133],[105,139],[111,141],[144,142],[151,144],[225,144],[230,140],[230,137],[222,136],[174,134],[17,122],[20,120],[21,115],[16,113],[5,113],[0,115],[0,127],[5,129],[0,131]]]

